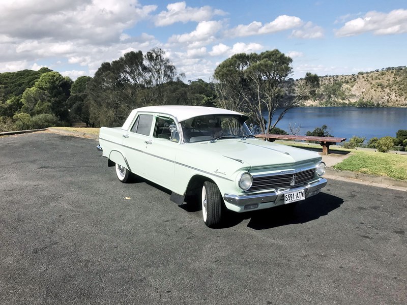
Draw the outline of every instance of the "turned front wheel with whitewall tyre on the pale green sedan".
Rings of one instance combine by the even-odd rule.
[[[222,196],[219,188],[211,181],[203,182],[202,186],[202,216],[203,222],[213,228],[220,223],[222,211]]]

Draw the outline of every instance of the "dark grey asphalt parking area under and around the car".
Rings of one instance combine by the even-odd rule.
[[[1,304],[405,304],[405,192],[329,180],[290,214],[200,210],[138,179],[98,142],[0,138]]]

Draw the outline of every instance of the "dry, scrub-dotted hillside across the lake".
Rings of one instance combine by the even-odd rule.
[[[352,75],[326,75],[319,81],[316,98],[302,106],[407,107],[405,66]]]

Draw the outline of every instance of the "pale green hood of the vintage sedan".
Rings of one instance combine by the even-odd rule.
[[[216,142],[200,142],[200,149],[207,154],[222,155],[255,168],[270,168],[284,164],[304,163],[321,159],[314,151],[275,144],[259,139],[224,139]]]

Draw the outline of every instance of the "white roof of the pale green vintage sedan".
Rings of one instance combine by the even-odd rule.
[[[203,107],[203,106],[183,106],[183,105],[164,105],[164,106],[147,106],[134,109],[129,118],[133,118],[136,112],[155,112],[161,114],[169,114],[175,117],[179,122],[186,120],[191,117],[199,116],[199,115],[209,115],[209,114],[238,114],[242,116],[246,116],[240,112],[231,111],[222,108],[215,108],[215,107]],[[127,123],[127,121],[126,121]],[[124,126],[126,125],[124,124]]]

